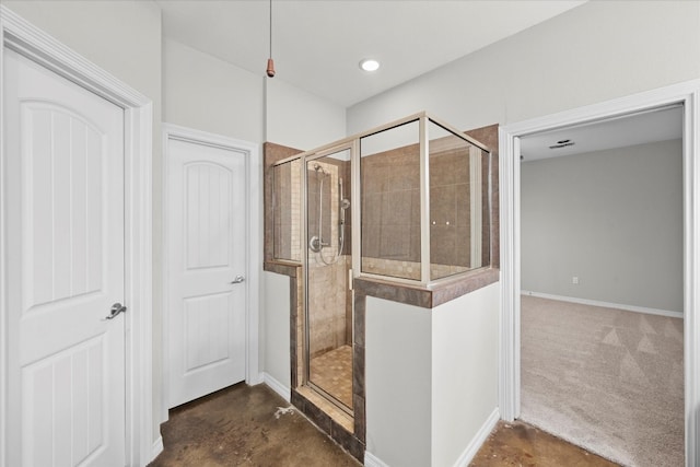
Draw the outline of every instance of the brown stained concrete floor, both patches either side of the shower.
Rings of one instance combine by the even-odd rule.
[[[358,467],[360,464],[266,385],[244,383],[177,407],[161,427],[152,467]],[[500,422],[471,467],[612,467],[525,423]],[[393,466],[400,467],[400,466]]]

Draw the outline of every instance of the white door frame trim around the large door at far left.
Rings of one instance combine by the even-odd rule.
[[[56,38],[0,5],[0,92],[3,89],[5,48],[69,79],[124,109],[125,115],[125,377],[126,462],[145,465],[162,450],[153,440],[152,398],[152,226],[151,159],[153,109],[151,101],[105,70],[68,48]],[[3,115],[0,108],[0,141]],[[4,177],[3,147],[0,147],[0,179]],[[5,194],[0,192],[0,342],[7,342],[8,270],[5,261]],[[8,381],[8,349],[0,346],[0,381]],[[7,413],[8,390],[0,385],[0,407]],[[0,453],[7,453],[8,421],[0,419]],[[0,467],[8,465],[0,455]]]

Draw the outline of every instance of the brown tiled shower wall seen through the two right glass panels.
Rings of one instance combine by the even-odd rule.
[[[420,165],[418,145],[362,157],[362,270],[420,279]],[[483,201],[488,212],[488,159]],[[432,277],[462,272],[471,264],[470,164],[466,147],[430,154]],[[482,231],[488,265],[489,218]],[[486,234],[486,235],[483,235]]]

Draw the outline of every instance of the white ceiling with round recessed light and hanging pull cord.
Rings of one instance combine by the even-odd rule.
[[[156,0],[164,36],[265,74],[268,0]],[[277,75],[351,106],[584,1],[272,0]],[[382,68],[358,67],[376,58]]]

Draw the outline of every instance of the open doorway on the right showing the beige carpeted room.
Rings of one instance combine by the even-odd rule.
[[[670,106],[521,139],[521,419],[623,465],[682,464],[681,137]]]

